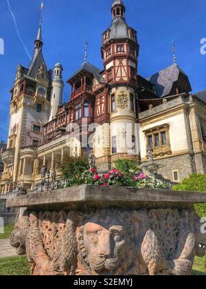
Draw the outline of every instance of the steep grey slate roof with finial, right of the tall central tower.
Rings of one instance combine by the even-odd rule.
[[[185,74],[179,65],[173,64],[172,66],[161,70],[161,72],[157,72],[147,79],[155,85],[157,96],[168,96],[173,84],[178,81],[180,72]],[[187,74],[185,74],[185,76],[187,76]]]

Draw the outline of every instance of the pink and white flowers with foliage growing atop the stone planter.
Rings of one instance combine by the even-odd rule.
[[[76,178],[69,180],[68,186],[80,184],[92,184],[98,186],[131,186],[135,188],[167,189],[160,180],[148,177],[144,173],[135,175],[133,173],[120,173],[117,169],[108,171],[104,175],[96,173],[95,169],[86,171]]]

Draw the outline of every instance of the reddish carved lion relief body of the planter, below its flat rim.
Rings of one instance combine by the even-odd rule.
[[[190,275],[206,250],[192,209],[25,212],[10,242],[32,275]]]

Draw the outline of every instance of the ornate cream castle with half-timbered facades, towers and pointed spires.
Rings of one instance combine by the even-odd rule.
[[[19,65],[11,89],[10,127],[1,193],[21,183],[33,189],[43,166],[56,170],[70,156],[95,155],[100,171],[117,159],[147,162],[153,149],[158,173],[180,182],[206,173],[206,92],[196,95],[187,74],[174,63],[148,78],[138,73],[137,32],[126,23],[126,6],[114,0],[112,23],[102,34],[104,69],[87,62],[68,79],[62,103],[63,67],[48,70],[43,56],[42,19],[29,67]]]

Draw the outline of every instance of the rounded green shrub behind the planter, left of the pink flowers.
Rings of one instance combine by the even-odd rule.
[[[80,175],[87,170],[89,170],[89,162],[87,158],[82,157],[65,156],[60,167],[63,178],[77,182]]]

